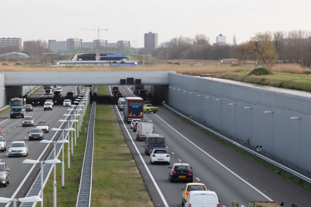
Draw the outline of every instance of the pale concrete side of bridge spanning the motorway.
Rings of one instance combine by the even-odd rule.
[[[143,85],[169,85],[170,72],[176,73],[176,71],[9,71],[2,73],[4,73],[5,86],[30,86],[120,85],[120,79],[127,80],[126,85],[133,85],[136,79]]]

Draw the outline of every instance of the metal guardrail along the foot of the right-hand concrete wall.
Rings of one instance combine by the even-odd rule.
[[[293,176],[296,176],[298,178],[303,179],[304,181],[306,181],[306,183],[309,182],[309,185],[310,185],[310,183],[311,183],[311,175],[309,173],[306,173],[306,172],[304,172],[304,171],[302,171],[302,170],[300,170],[300,169],[298,169],[298,168],[296,168],[296,167],[294,167],[294,166],[292,166],[292,165],[290,165],[288,163],[285,163],[285,162],[283,162],[281,160],[278,160],[278,159],[276,159],[276,158],[272,157],[271,155],[268,155],[268,154],[266,154],[264,152],[258,152],[258,151],[256,151],[255,148],[245,144],[244,142],[241,142],[238,139],[230,137],[230,136],[228,136],[228,135],[226,135],[226,134],[224,134],[224,133],[222,133],[222,132],[220,132],[220,131],[218,131],[218,130],[216,130],[214,128],[211,128],[211,127],[208,127],[206,125],[200,124],[199,122],[197,122],[197,121],[195,121],[193,119],[190,119],[186,115],[183,115],[179,111],[173,109],[168,104],[165,104],[165,103],[162,103],[162,102],[160,102],[160,103],[163,106],[165,106],[165,107],[169,108],[170,110],[174,111],[176,114],[182,116],[183,118],[188,119],[193,124],[195,124],[195,125],[203,128],[203,129],[205,129],[205,130],[207,130],[207,131],[217,135],[218,137],[224,139],[225,141],[232,143],[233,145],[243,149],[244,151],[249,152],[250,154],[252,154],[254,156],[257,156],[258,158],[260,158],[262,160],[265,160],[266,162],[268,162],[268,163],[270,163],[270,164],[272,164],[272,165],[274,165],[274,166],[276,166],[276,167],[278,167],[278,168],[280,168],[282,170],[285,170],[286,172],[292,174]]]

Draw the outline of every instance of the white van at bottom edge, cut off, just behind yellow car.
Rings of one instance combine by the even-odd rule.
[[[185,207],[219,207],[214,191],[190,191]]]

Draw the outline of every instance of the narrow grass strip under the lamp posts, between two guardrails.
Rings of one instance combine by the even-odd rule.
[[[62,188],[62,165],[56,164],[56,182],[57,182],[57,206],[58,207],[75,207],[77,202],[79,182],[78,174],[81,178],[81,170],[84,159],[84,152],[86,146],[86,134],[84,134],[84,128],[86,126],[86,120],[90,120],[92,106],[89,105],[86,110],[84,122],[81,126],[81,132],[79,133],[79,139],[77,139],[77,146],[74,146],[73,161],[70,160],[70,170],[67,169],[67,147],[68,144],[64,144],[64,162],[65,162],[65,187]],[[70,134],[71,139],[71,134]],[[62,160],[62,153],[58,156],[59,160]],[[53,206],[53,179],[54,170],[52,170],[48,182],[43,190],[44,206],[48,206],[48,193],[49,193],[49,206]],[[36,207],[40,207],[40,203],[37,203]]]

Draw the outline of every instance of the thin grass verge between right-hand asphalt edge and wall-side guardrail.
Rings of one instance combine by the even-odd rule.
[[[304,180],[302,180],[300,178],[291,177],[289,174],[287,174],[286,172],[283,172],[279,168],[273,167],[272,165],[270,165],[269,163],[265,162],[264,160],[261,160],[258,157],[249,154],[248,152],[242,150],[241,148],[226,142],[224,139],[216,136],[215,134],[213,134],[213,133],[211,133],[209,131],[206,131],[203,128],[193,124],[191,121],[189,121],[188,119],[185,119],[184,117],[180,116],[179,114],[175,113],[174,111],[171,111],[169,108],[167,108],[167,107],[163,107],[163,108],[165,108],[170,113],[172,113],[175,116],[177,116],[179,119],[183,120],[185,123],[193,126],[197,130],[201,131],[202,133],[207,134],[209,137],[212,137],[213,139],[217,140],[218,142],[220,142],[220,143],[224,144],[225,146],[229,147],[230,149],[236,151],[240,155],[243,155],[248,160],[251,160],[254,163],[257,163],[257,164],[261,165],[262,167],[264,167],[264,168],[266,168],[266,169],[268,169],[268,170],[270,170],[270,171],[280,175],[282,178],[285,178],[285,179],[289,180],[290,182],[298,185],[299,187],[301,187],[301,188],[311,192],[311,185],[306,184],[306,182]]]

